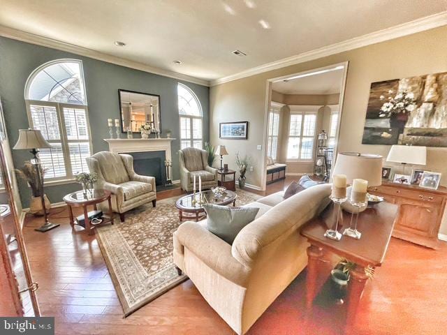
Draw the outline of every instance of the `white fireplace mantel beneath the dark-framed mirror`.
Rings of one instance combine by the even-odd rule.
[[[166,159],[172,161],[170,142],[175,138],[105,138],[109,151],[116,154],[142,151],[166,151]]]

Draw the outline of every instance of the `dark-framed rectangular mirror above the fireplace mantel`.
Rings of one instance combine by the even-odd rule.
[[[132,133],[140,133],[140,127],[144,124],[150,124],[153,130],[161,130],[160,96],[124,89],[119,89],[118,94],[123,133],[129,128]]]

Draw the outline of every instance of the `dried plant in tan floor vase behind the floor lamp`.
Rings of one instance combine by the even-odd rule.
[[[27,181],[29,187],[31,188],[31,201],[29,202],[29,212],[34,215],[43,215],[42,199],[41,194],[43,192],[43,187],[39,183],[38,170],[40,172],[40,180],[43,181],[43,174],[45,170],[36,169],[36,165],[26,161],[22,168],[15,169],[15,173],[18,177]],[[45,208],[47,213],[50,213],[51,202],[48,200],[47,195],[43,195],[43,200],[45,201]]]

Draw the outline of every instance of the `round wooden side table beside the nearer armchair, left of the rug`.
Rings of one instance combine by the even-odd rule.
[[[81,227],[85,228],[89,235],[93,234],[94,228],[98,225],[102,225],[104,223],[112,223],[113,224],[113,211],[112,211],[112,201],[111,201],[112,193],[110,191],[101,190],[101,189],[91,189],[88,190],[87,193],[84,191],[76,191],[73,193],[69,193],[64,197],[64,202],[66,202],[68,206],[68,211],[70,214],[70,224],[71,228],[75,228],[75,225],[80,225],[78,221],[75,221],[73,217],[73,209],[72,207],[82,207],[84,209],[84,225]],[[109,212],[108,218],[103,217],[103,221],[101,223],[91,223],[89,219],[89,213],[87,211],[87,207],[89,205],[93,205],[94,209],[98,209],[98,203],[107,200],[109,204]]]

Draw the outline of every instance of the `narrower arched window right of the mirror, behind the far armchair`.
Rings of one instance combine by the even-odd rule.
[[[202,107],[196,94],[184,84],[177,84],[180,117],[180,149],[203,147]]]

